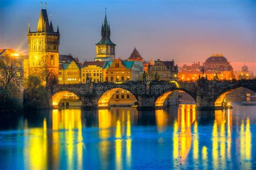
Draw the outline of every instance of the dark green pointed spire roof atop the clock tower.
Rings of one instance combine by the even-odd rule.
[[[110,40],[110,25],[107,24],[107,17],[105,13],[104,25],[102,25],[102,39],[96,45],[114,45]]]

